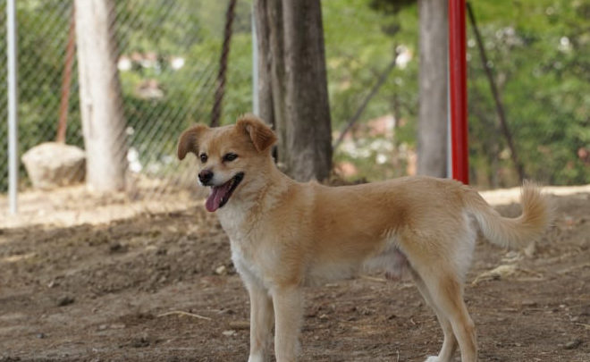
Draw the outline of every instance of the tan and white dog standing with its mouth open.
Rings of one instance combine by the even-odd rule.
[[[410,274],[443,328],[443,347],[428,362],[477,359],[476,331],[462,282],[476,237],[523,247],[550,221],[546,198],[523,186],[522,215],[499,215],[474,189],[432,177],[355,186],[299,183],[281,173],[277,138],[252,115],[233,125],[197,125],[179,139],[178,157],[198,158],[198,181],[210,187],[206,209],[229,236],[232,261],[250,299],[249,362],[297,360],[302,289],[378,268],[392,279]]]

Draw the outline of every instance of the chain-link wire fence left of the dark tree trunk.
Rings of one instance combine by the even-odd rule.
[[[78,46],[73,46],[76,44],[74,19],[79,18],[74,12],[87,9],[74,9],[73,0],[19,0],[16,3],[18,156],[21,158],[31,148],[55,140],[88,151],[81,126],[79,74],[90,81],[96,82],[99,78],[93,78],[96,74],[79,72],[79,58],[72,52],[73,49],[81,51],[80,40]],[[230,1],[105,3],[111,5],[106,15],[114,46],[113,63],[116,63],[111,77],[118,83],[120,99],[115,104],[120,106],[116,112],[122,115],[123,123],[122,134],[111,143],[122,144],[115,151],[122,153],[124,193],[132,200],[173,194],[185,185],[194,185],[195,175],[189,172],[192,160],[179,165],[175,159],[175,144],[181,130],[190,124],[210,122],[223,38],[228,36],[224,28]],[[6,54],[6,5],[6,0],[0,1],[3,54]],[[232,87],[232,84],[249,84],[251,79],[250,9],[249,2],[240,2],[231,14],[231,66],[227,73],[222,122],[251,110],[251,88]],[[88,53],[100,52],[101,48],[97,43],[86,49]],[[96,62],[99,55],[90,54],[94,57],[91,61]],[[5,61],[0,66],[0,97],[6,99]],[[0,102],[0,117],[7,119],[4,101]],[[107,127],[113,127],[112,120],[105,122]],[[1,193],[8,187],[6,133],[7,123],[2,122]],[[79,171],[80,167],[76,169]],[[64,182],[69,178],[63,174],[60,177]],[[32,189],[30,172],[22,163],[19,180],[21,194]]]

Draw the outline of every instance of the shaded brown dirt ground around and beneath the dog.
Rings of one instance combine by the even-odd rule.
[[[533,247],[478,243],[466,299],[482,361],[590,361],[590,193],[552,199]],[[18,225],[0,226],[0,361],[247,360],[247,293],[204,207]],[[412,283],[381,275],[308,289],[304,325],[306,361],[423,361],[442,342]]]

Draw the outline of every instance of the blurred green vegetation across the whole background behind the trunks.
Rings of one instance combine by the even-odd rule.
[[[322,1],[333,130],[371,97],[335,150],[336,171],[378,181],[412,173],[417,124],[417,5],[375,0]],[[63,53],[71,1],[19,0],[21,154],[55,139]],[[175,140],[194,122],[209,122],[226,1],[116,2],[115,34],[129,68],[120,66],[129,143],[145,173],[173,168]],[[0,1],[4,9],[5,0]],[[583,0],[479,0],[473,3],[518,155],[527,177],[544,184],[590,182],[590,3]],[[251,1],[239,0],[233,24],[223,123],[252,111]],[[5,54],[5,14],[0,47]],[[493,97],[468,28],[471,180],[482,188],[518,184]],[[135,58],[134,58],[135,57]],[[135,59],[135,60],[134,60]],[[181,63],[173,63],[173,61]],[[149,63],[152,62],[152,63]],[[0,65],[6,99],[6,63]],[[67,142],[82,146],[77,71],[73,71]],[[427,99],[421,100],[427,102]],[[6,118],[6,109],[0,107]],[[382,131],[379,120],[384,120]],[[380,128],[381,127],[381,128]],[[0,128],[5,139],[6,122]],[[6,147],[0,190],[6,189]]]

